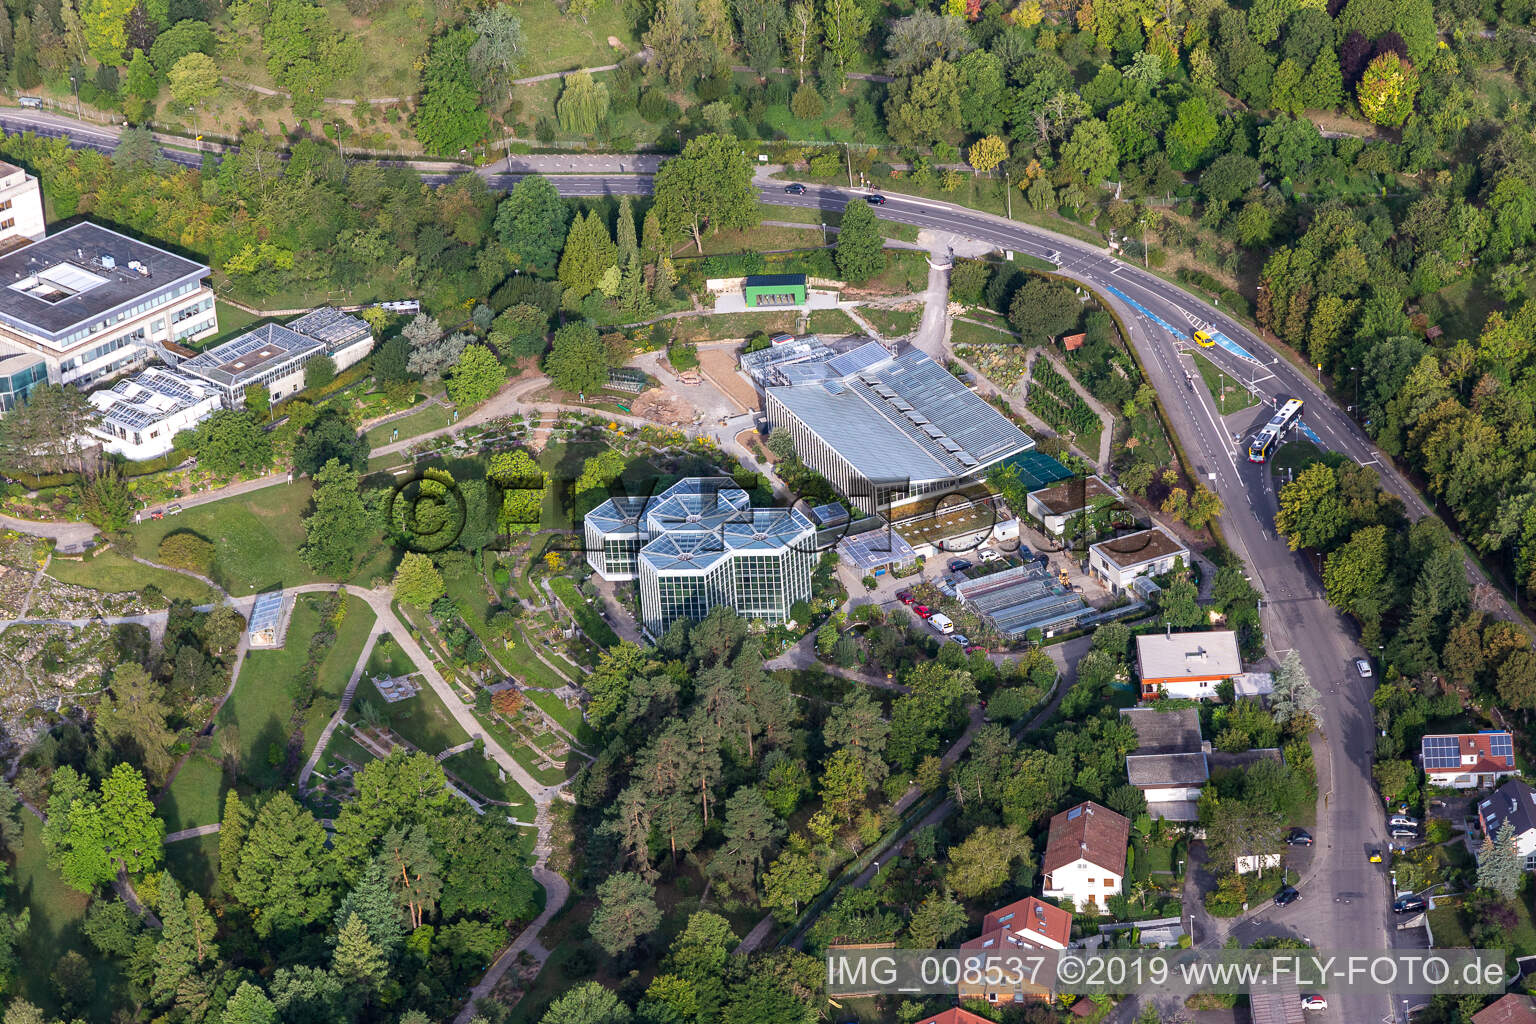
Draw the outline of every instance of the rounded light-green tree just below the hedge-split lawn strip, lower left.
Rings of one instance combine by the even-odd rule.
[[[267,938],[326,917],[333,901],[335,874],[326,829],[293,797],[280,791],[250,824],[230,895],[252,910],[252,927]]]

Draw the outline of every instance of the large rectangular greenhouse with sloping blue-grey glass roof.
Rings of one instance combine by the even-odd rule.
[[[869,513],[974,482],[1035,444],[915,348],[862,345],[796,365],[799,382],[765,387],[768,421]]]

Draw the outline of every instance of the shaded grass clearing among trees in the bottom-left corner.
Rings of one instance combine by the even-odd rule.
[[[41,821],[23,811],[22,829],[22,843],[15,851],[15,867],[11,872],[14,881],[11,906],[17,910],[31,907],[32,920],[26,938],[17,944],[14,993],[43,1007],[49,1015],[60,1012],[63,1007],[48,975],[60,956],[75,949],[91,961],[95,981],[95,990],[80,999],[78,1016],[104,1021],[109,1016],[108,992],[117,981],[117,966],[108,956],[98,955],[81,936],[86,897],[66,886],[65,880],[48,866]]]

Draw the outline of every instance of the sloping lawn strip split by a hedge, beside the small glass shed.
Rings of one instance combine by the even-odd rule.
[[[298,596],[283,648],[247,654],[235,692],[218,712],[220,732],[215,735],[221,746],[227,745],[232,740],[223,731],[235,726],[233,742],[238,743],[241,774],[258,789],[272,789],[283,781],[278,768],[286,755],[293,712],[289,680],[309,657],[309,639],[319,628],[323,600],[323,594]],[[372,626],[373,609],[358,597],[347,597],[346,619],[336,633],[336,642],[319,663],[315,702],[304,717],[301,761],[309,757],[319,740],[319,731],[339,706],[341,692]]]

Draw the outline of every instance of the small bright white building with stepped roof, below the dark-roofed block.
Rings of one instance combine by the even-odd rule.
[[[154,459],[170,451],[178,430],[197,427],[220,405],[210,385],[157,365],[88,398],[101,413],[91,433],[104,450],[126,459]]]

